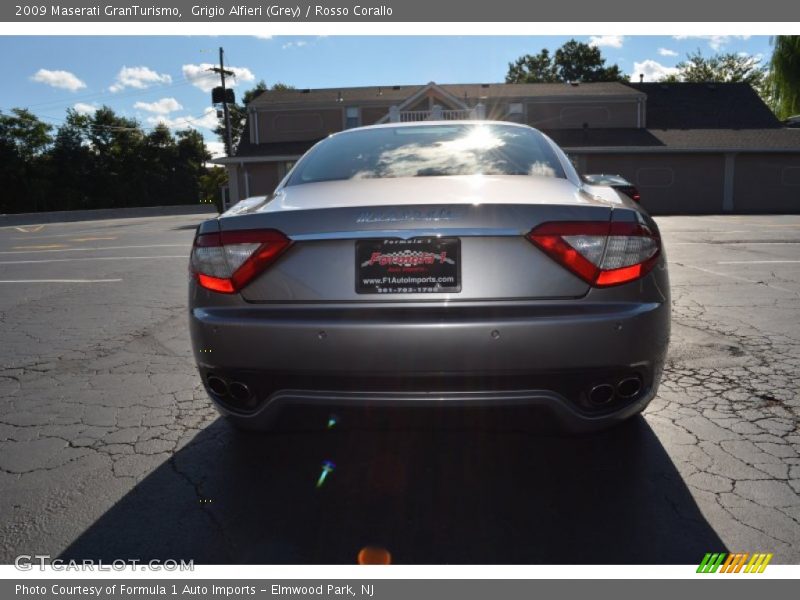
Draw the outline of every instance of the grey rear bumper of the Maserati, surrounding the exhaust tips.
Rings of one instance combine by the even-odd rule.
[[[212,399],[252,428],[286,406],[382,405],[531,406],[566,430],[598,429],[652,399],[669,340],[663,302],[223,306],[190,320],[206,387],[225,386]],[[590,401],[630,377],[635,395]],[[227,393],[237,383],[246,400]]]

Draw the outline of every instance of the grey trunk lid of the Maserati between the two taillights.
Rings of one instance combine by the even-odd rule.
[[[588,284],[525,235],[544,222],[607,221],[611,214],[609,202],[582,193],[567,180],[544,177],[327,182],[285,188],[268,200],[220,218],[223,231],[277,229],[293,241],[285,255],[241,291],[250,302],[582,297]],[[450,254],[443,258],[443,250]],[[387,266],[401,268],[393,274],[383,272],[366,264],[376,253],[390,261],[398,253],[405,260],[409,254],[424,260],[433,254],[433,272],[421,275],[445,273],[457,281],[436,287],[408,280],[420,275],[420,266],[409,263]],[[364,284],[376,274],[400,279],[386,286]]]

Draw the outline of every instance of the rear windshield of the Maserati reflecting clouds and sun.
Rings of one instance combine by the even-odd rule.
[[[298,163],[287,185],[478,174],[565,177],[555,152],[538,131],[462,123],[335,135]]]

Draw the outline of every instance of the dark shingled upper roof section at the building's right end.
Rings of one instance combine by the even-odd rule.
[[[766,129],[780,121],[747,83],[631,83],[651,129]]]

